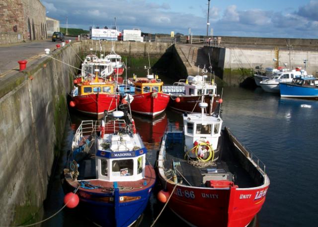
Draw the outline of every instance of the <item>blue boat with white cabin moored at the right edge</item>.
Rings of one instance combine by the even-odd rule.
[[[305,76],[294,78],[290,83],[279,84],[280,96],[291,98],[318,98],[318,78]]]

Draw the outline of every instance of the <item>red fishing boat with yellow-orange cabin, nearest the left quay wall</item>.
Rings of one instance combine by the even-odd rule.
[[[99,70],[94,70],[95,79],[86,77],[75,80],[77,86],[71,93],[70,106],[79,112],[100,119],[104,112],[112,112],[119,104],[120,96],[115,93],[115,82],[99,78]]]

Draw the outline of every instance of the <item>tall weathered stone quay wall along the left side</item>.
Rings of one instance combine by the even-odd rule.
[[[72,47],[55,50],[51,56],[78,66],[80,43]],[[0,226],[42,220],[74,74],[69,66],[44,57],[0,83]]]

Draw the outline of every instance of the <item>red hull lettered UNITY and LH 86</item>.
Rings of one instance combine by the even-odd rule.
[[[165,184],[171,193],[174,185]],[[177,186],[168,206],[192,226],[246,227],[264,204],[267,189],[268,186],[257,189]]]

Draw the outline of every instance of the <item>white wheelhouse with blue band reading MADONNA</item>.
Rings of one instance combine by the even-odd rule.
[[[126,125],[124,120],[116,121],[116,127]],[[147,149],[139,134],[105,133],[102,138],[96,139],[96,147],[97,179],[120,182],[138,181],[145,177]]]

